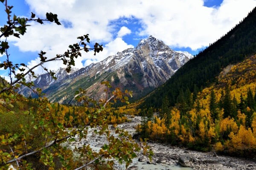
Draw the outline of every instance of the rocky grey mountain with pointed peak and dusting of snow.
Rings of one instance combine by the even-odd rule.
[[[140,40],[135,48],[118,52],[71,74],[60,68],[55,74],[57,80],[42,74],[34,83],[42,88],[50,101],[64,104],[73,102],[74,93],[79,88],[86,89],[88,95],[95,98],[104,97],[104,86],[100,83],[107,80],[113,87],[132,90],[134,96],[139,97],[166,82],[192,57],[188,52],[174,51],[150,36]],[[29,95],[26,88],[20,93]]]

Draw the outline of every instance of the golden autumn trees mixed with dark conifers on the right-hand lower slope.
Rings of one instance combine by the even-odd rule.
[[[175,107],[164,101],[162,119],[145,116],[140,133],[151,140],[246,155],[256,149],[256,55],[221,72],[218,83]],[[193,100],[195,96],[195,100]]]

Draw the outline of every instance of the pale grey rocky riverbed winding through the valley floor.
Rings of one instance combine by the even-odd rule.
[[[128,117],[131,122],[125,122],[118,127],[134,134],[134,127],[140,123],[140,117]],[[110,128],[111,129],[111,128]],[[87,140],[72,143],[73,147],[90,144],[94,150],[99,150],[105,143],[105,136],[97,136],[93,129],[87,136]],[[170,144],[148,142],[154,153],[152,162],[142,153],[133,160],[128,170],[256,170],[256,158],[253,160],[221,156],[213,152],[199,152],[188,150],[185,147],[175,147]],[[115,164],[116,170],[125,170],[125,165]]]

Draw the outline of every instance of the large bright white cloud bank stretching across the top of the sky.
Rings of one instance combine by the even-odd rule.
[[[110,42],[113,27],[109,21],[120,17],[136,17],[143,29],[139,35],[153,35],[167,45],[198,49],[209,45],[239,23],[256,6],[256,0],[224,0],[218,8],[204,6],[204,0],[26,0],[35,13],[47,11],[58,14],[60,20],[72,23],[73,37],[90,34],[92,40]],[[127,27],[119,30],[118,37],[129,34]],[[61,28],[59,37],[67,28]],[[53,30],[55,31],[55,30]],[[52,32],[53,32],[52,31]],[[68,30],[67,30],[68,32]],[[54,32],[56,34],[56,32]],[[36,33],[35,33],[36,34]],[[46,36],[51,36],[49,30]],[[67,40],[70,40],[67,38]]]

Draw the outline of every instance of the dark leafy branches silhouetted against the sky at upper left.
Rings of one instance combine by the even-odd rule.
[[[27,65],[24,63],[20,64],[14,64],[10,60],[10,54],[8,53],[9,49],[9,43],[8,43],[8,37],[14,36],[17,38],[20,38],[20,35],[24,35],[26,33],[26,28],[29,22],[35,21],[38,23],[43,24],[43,21],[47,22],[54,22],[57,25],[61,25],[61,23],[58,21],[57,14],[52,14],[51,12],[46,14],[46,19],[40,19],[39,17],[35,19],[35,14],[32,13],[30,18],[20,18],[17,17],[16,15],[13,15],[13,18],[10,19],[11,16],[11,9],[13,6],[8,6],[7,5],[7,0],[6,1],[1,1],[6,9],[6,14],[8,16],[8,21],[7,24],[4,25],[3,27],[0,28],[1,37],[5,37],[5,40],[1,41],[0,40],[0,54],[5,54],[6,55],[6,61],[3,63],[0,63],[0,68],[3,68],[5,70],[9,70],[9,77],[10,77],[10,84],[6,86],[6,88],[3,88],[0,93],[3,93],[3,91],[9,90],[13,85],[22,84],[26,86],[32,86],[33,84],[31,82],[27,83],[25,76],[30,74],[32,77],[35,77],[34,69],[37,68],[38,66],[41,66],[45,71],[47,71],[53,78],[54,77],[54,72],[51,70],[48,71],[46,67],[44,67],[44,63],[50,62],[50,61],[56,61],[56,60],[62,60],[64,65],[67,65],[66,71],[70,72],[71,66],[75,65],[75,58],[81,57],[81,52],[80,51],[85,51],[88,52],[89,50],[94,51],[94,55],[96,53],[99,53],[99,51],[103,50],[102,45],[99,45],[98,43],[95,43],[93,48],[87,48],[86,43],[90,43],[90,38],[88,37],[89,34],[86,34],[84,36],[77,37],[79,40],[78,43],[74,43],[73,45],[69,45],[69,49],[65,51],[63,54],[57,54],[56,57],[52,58],[47,58],[45,57],[46,52],[41,51],[38,55],[40,57],[40,63],[35,65],[32,68],[28,68]],[[35,77],[36,78],[36,77]],[[19,87],[19,85],[17,85]]]

